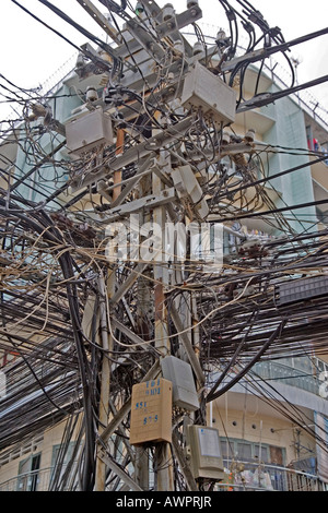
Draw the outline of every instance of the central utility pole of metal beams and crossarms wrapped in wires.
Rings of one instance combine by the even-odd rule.
[[[103,17],[90,0],[80,3],[102,24]],[[188,467],[191,453],[190,448],[185,445],[188,423],[195,423],[195,411],[202,408],[206,377],[199,358],[197,302],[192,291],[185,286],[185,278],[191,269],[191,255],[187,251],[187,243],[192,237],[189,228],[194,223],[199,228],[208,214],[202,182],[209,181],[206,163],[208,155],[213,152],[213,146],[198,147],[202,142],[199,143],[197,131],[206,128],[208,136],[212,127],[215,127],[216,132],[223,123],[232,122],[236,95],[207,69],[208,59],[218,51],[216,45],[207,51],[194,51],[180,33],[185,26],[201,19],[198,1],[187,2],[187,10],[180,15],[176,14],[171,4],[162,10],[154,1],[143,0],[141,3],[138,16],[127,19],[121,33],[114,31],[108,21],[104,24],[107,35],[117,45],[115,49],[108,48],[108,59],[104,65],[116,62],[115,69],[122,71],[119,79],[115,79],[118,80],[116,85],[110,76],[103,97],[96,99],[92,108],[86,106],[90,112],[83,127],[85,139],[81,141],[74,122],[66,126],[68,146],[72,153],[101,147],[92,172],[74,181],[74,191],[96,184],[97,192],[107,201],[99,222],[107,225],[109,234],[118,231],[116,242],[112,246],[114,252],[115,243],[119,246],[122,241],[118,252],[120,254],[117,253],[110,261],[106,293],[104,282],[99,283],[98,313],[104,355],[95,489],[105,489],[108,468],[119,476],[128,489],[148,489],[152,446],[155,490],[174,490],[174,465],[178,462],[187,488],[195,491],[198,487],[195,476],[198,476],[199,469],[196,464],[192,472]],[[160,44],[160,40],[164,44]],[[87,51],[95,59],[97,71],[99,56],[93,55],[90,47]],[[101,56],[104,57],[103,50]],[[89,76],[90,69],[90,65],[79,68],[81,79]],[[156,108],[150,114],[153,104]],[[144,117],[151,129],[143,124]],[[83,123],[83,117],[79,123]],[[102,130],[99,139],[92,140],[92,134]],[[212,143],[216,144],[215,138],[213,135]],[[113,156],[106,155],[108,146],[112,147]],[[219,158],[221,148],[215,151]],[[237,144],[232,150],[226,146],[224,151],[225,155],[230,151],[238,155],[251,151],[251,145]],[[133,172],[129,176],[131,169]],[[129,231],[127,226],[130,225],[131,229],[133,223],[137,228]],[[176,237],[168,238],[169,244],[165,246],[168,224],[181,225],[185,238],[180,239],[179,231],[174,229]],[[132,234],[136,229],[137,242]],[[179,258],[181,248],[185,261]],[[128,250],[134,259],[130,254],[129,260]],[[174,288],[178,294],[169,301],[168,311],[167,296]],[[128,358],[138,356],[142,348],[145,354],[149,351],[152,357],[155,355],[156,361],[151,368],[145,367],[144,359],[141,368],[131,372],[130,379],[136,381],[143,374],[136,385],[160,377],[165,381],[169,374],[172,402],[175,398],[175,403],[172,411],[165,411],[165,420],[169,419],[172,428],[173,422],[183,426],[169,433],[172,443],[165,437],[151,442],[143,442],[141,437],[141,441],[134,442],[132,454],[127,440],[129,437],[132,439],[132,413],[137,406],[145,408],[145,402],[141,401],[136,406],[130,397],[125,403],[118,401],[114,409],[109,408],[110,355],[117,342],[113,330],[119,333],[118,338],[122,335],[131,343]],[[129,347],[129,344],[126,346]],[[119,356],[124,359],[125,353],[119,351]],[[125,365],[128,365],[128,358]],[[178,384],[181,371],[174,374],[175,365],[183,365],[183,372],[188,375],[188,399],[179,395],[183,393]],[[109,411],[114,413],[109,416]],[[144,411],[147,419],[147,409]],[[206,423],[201,415],[199,419],[202,425]],[[131,462],[134,468],[132,476],[122,472],[112,458],[108,442],[116,430],[126,433],[122,445],[126,446],[126,461]]]

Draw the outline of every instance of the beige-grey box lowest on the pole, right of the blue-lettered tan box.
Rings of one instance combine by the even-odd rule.
[[[187,426],[186,439],[195,479],[199,477],[218,481],[224,479],[218,429],[206,426]]]

